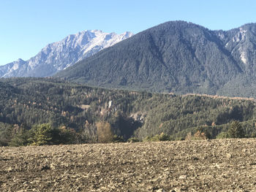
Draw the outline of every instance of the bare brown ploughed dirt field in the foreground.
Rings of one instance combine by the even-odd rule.
[[[256,191],[256,139],[0,147],[0,191]]]

